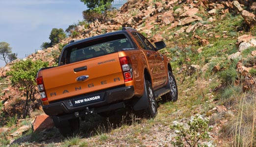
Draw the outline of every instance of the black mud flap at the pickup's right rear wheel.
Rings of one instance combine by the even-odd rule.
[[[137,101],[134,101],[135,104],[133,105],[133,110],[145,110],[149,106],[149,100],[148,100],[148,91],[146,87],[146,81],[144,79],[144,93],[141,98],[139,98]]]

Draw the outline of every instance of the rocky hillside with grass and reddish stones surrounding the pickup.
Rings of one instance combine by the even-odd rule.
[[[71,40],[120,30],[123,26],[133,27],[151,42],[163,40],[167,44],[162,52],[172,59],[179,100],[175,103],[159,100],[159,112],[154,120],[138,121],[135,116],[124,114],[128,118],[125,122],[123,118],[119,122],[113,121],[114,118],[107,121],[100,117],[89,118],[84,122],[89,128],[81,128],[83,133],[74,144],[71,139],[63,141],[65,138],[54,128],[39,133],[42,135],[39,139],[38,134],[32,133],[29,123],[22,123],[33,119],[19,120],[16,115],[24,109],[23,101],[17,99],[25,97],[23,92],[10,86],[6,77],[13,64],[10,63],[0,69],[1,113],[10,116],[0,118],[7,122],[0,128],[4,138],[0,145],[11,142],[23,147],[172,147],[172,142],[177,141],[174,122],[187,124],[191,116],[200,115],[208,118],[213,128],[206,141],[208,146],[256,146],[255,135],[252,135],[256,118],[255,12],[254,0],[129,0],[120,10],[109,12],[109,20],[104,24],[96,21],[78,25],[77,38],[69,37],[26,59],[48,61],[54,66],[60,50]],[[36,99],[30,108],[31,117],[42,113],[38,95]],[[11,117],[18,119],[18,123],[14,120],[14,125],[8,128],[6,124],[11,122]],[[92,122],[99,123],[92,125]],[[14,135],[15,125],[27,127]]]

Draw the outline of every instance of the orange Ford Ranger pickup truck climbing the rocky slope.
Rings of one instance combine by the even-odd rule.
[[[178,89],[167,57],[133,28],[65,46],[57,67],[37,73],[44,112],[63,135],[76,132],[80,119],[121,108],[157,114],[155,98],[176,101]]]

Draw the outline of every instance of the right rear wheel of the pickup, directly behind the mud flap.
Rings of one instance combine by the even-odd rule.
[[[145,116],[146,118],[150,119],[154,118],[157,114],[157,103],[154,97],[154,90],[152,88],[151,83],[148,80],[146,80],[145,84],[145,90],[147,90],[146,95],[149,102],[149,105],[145,110]]]

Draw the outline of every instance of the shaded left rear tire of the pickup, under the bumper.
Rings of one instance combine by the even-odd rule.
[[[63,136],[76,136],[78,134],[80,126],[79,118],[67,120],[61,123],[63,125],[59,126],[58,129]]]

